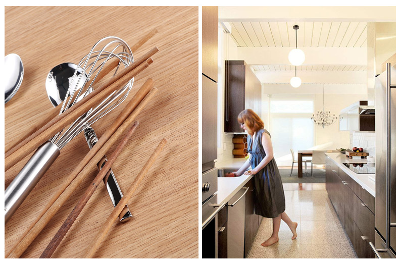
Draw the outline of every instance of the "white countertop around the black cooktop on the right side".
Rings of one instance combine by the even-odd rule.
[[[369,176],[375,178],[375,174],[357,174],[347,168],[342,163],[360,163],[366,164],[367,159],[349,159],[345,154],[339,152],[325,153],[329,159],[331,159],[340,169],[342,169],[346,174],[348,174],[352,179],[354,179],[360,186],[362,186],[367,192],[375,197],[375,182],[372,181]]]

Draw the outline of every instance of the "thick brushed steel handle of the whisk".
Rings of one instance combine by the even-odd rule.
[[[52,142],[41,145],[4,193],[5,223],[14,215],[48,168],[56,161],[60,150]]]

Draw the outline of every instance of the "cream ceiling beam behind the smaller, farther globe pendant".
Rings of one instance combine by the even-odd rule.
[[[255,75],[261,83],[289,83],[295,76],[295,71],[255,71]],[[303,70],[296,71],[302,83],[333,83],[333,84],[366,84],[366,71],[325,71],[325,70]]]

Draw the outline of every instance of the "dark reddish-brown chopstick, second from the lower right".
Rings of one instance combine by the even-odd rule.
[[[111,165],[115,162],[119,154],[121,153],[123,147],[126,145],[130,137],[133,135],[133,132],[136,130],[138,126],[138,122],[134,122],[132,128],[129,130],[127,135],[123,138],[123,140],[118,144],[116,150],[111,154],[108,162],[105,164],[104,168],[100,170],[91,184],[86,188],[86,191],[80,197],[78,203],[73,208],[72,212],[69,214],[64,224],[60,227],[52,241],[47,245],[41,254],[40,258],[50,258],[51,255],[56,251],[56,248],[61,243],[64,236],[67,234],[68,230],[71,228],[73,222],[75,222],[76,218],[79,216],[80,212],[82,212],[84,206],[93,195],[95,189],[97,189],[98,185],[103,181],[104,177],[109,173],[111,169]]]

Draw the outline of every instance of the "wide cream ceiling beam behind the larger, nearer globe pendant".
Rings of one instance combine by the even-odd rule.
[[[248,65],[290,65],[292,47],[238,47],[237,57]],[[367,65],[367,47],[301,47],[304,65]]]

